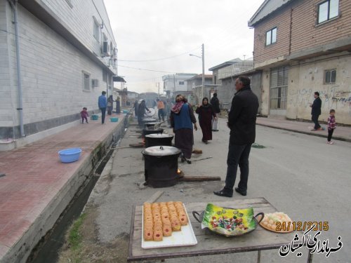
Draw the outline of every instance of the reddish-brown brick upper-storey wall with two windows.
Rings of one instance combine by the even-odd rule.
[[[321,46],[335,39],[351,37],[351,1],[339,0],[340,17],[317,25],[317,4],[319,2],[320,0],[293,2],[256,25],[253,48],[255,62],[260,63],[281,55],[290,55],[291,12],[290,53]],[[274,27],[277,27],[277,43],[265,46],[265,33]]]

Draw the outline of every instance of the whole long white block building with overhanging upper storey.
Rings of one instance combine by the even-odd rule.
[[[0,0],[0,28],[1,142],[76,125],[112,94],[117,44],[102,0]]]

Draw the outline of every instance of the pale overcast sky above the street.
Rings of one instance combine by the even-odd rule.
[[[264,0],[104,0],[117,42],[118,75],[137,93],[163,90],[162,76],[205,74],[223,62],[253,57],[247,22]],[[114,83],[119,88],[118,83]]]

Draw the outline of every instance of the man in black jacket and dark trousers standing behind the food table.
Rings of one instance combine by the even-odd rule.
[[[247,76],[239,76],[235,80],[235,93],[232,107],[228,114],[227,126],[230,128],[230,142],[227,156],[227,176],[225,187],[213,193],[218,196],[233,196],[233,187],[240,168],[240,182],[235,187],[242,196],[246,196],[249,178],[249,154],[251,144],[256,137],[256,115],[258,112],[258,97],[253,94]]]

